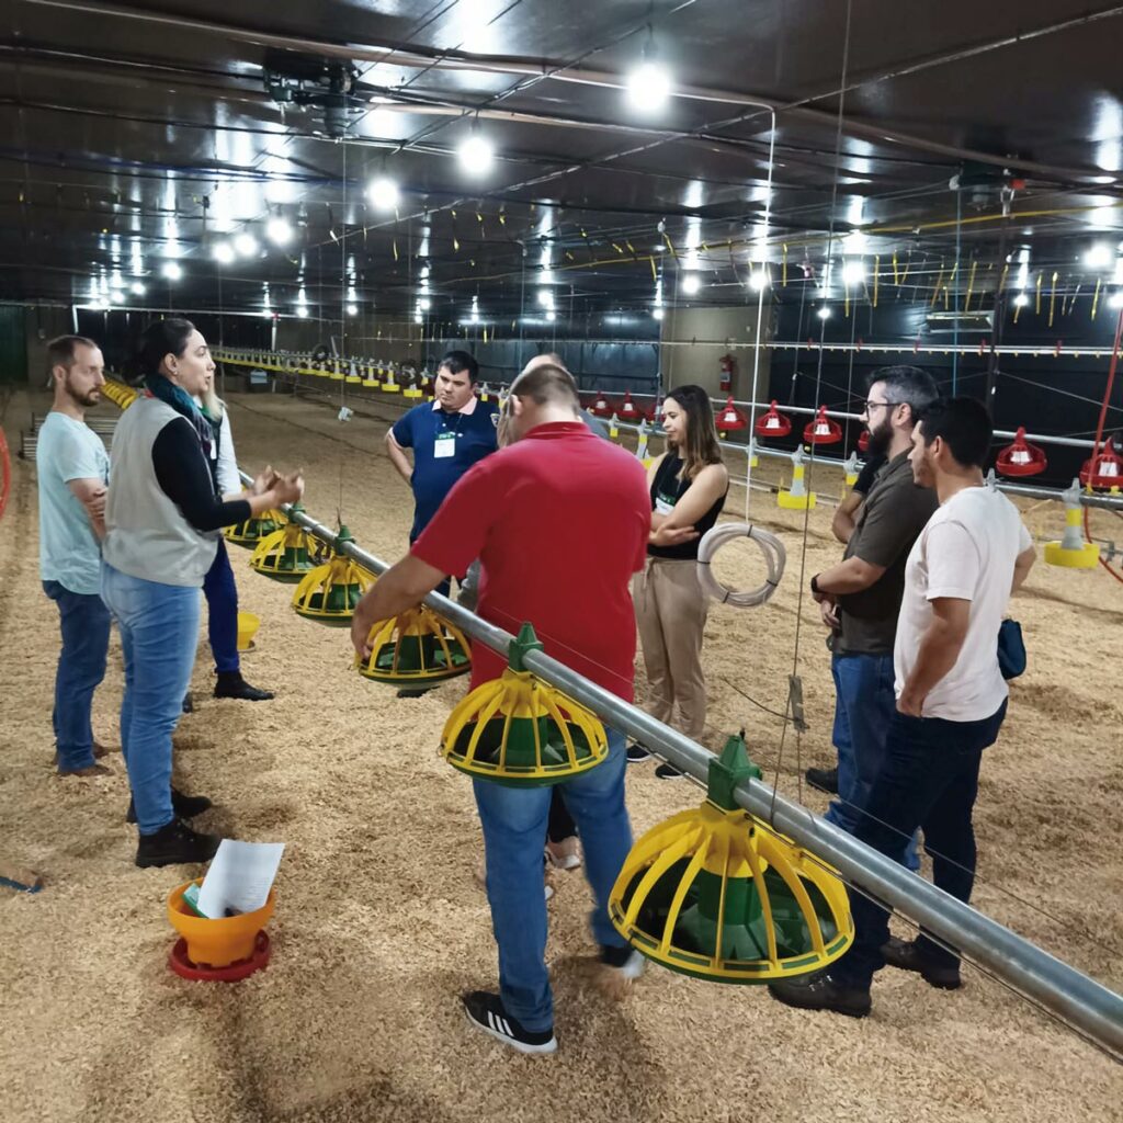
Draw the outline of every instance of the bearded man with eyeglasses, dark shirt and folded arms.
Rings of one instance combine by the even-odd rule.
[[[937,398],[935,383],[914,366],[875,371],[862,419],[869,455],[884,455],[842,560],[811,578],[811,593],[831,631],[838,796],[827,818],[855,833],[885,759],[896,707],[893,643],[904,595],[905,562],[937,509],[937,496],[913,482],[909,464],[916,417]],[[913,839],[901,840],[910,869],[920,868]]]

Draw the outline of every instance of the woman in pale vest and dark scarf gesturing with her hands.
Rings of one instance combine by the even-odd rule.
[[[140,831],[136,864],[166,866],[207,861],[219,843],[184,821],[210,802],[173,791],[172,732],[220,529],[295,501],[304,482],[266,469],[248,492],[216,495],[213,433],[193,400],[214,371],[207,340],[188,320],[159,320],[141,337],[140,362],[147,393],[121,416],[110,453],[101,597],[125,655],[121,749]]]

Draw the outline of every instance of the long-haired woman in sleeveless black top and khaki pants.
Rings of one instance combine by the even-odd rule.
[[[648,562],[636,575],[632,600],[647,668],[647,712],[697,741],[705,730],[701,656],[709,612],[697,575],[699,539],[718,521],[729,472],[721,459],[713,408],[701,386],[679,386],[667,394],[663,429],[667,450],[648,469]],[[641,745],[628,750],[631,761],[648,755]],[[672,779],[682,773],[660,765],[656,775]]]

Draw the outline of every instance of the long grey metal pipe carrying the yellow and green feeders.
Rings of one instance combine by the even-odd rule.
[[[244,476],[249,481],[248,476]],[[335,535],[303,512],[290,517],[310,533],[327,542]],[[355,542],[341,550],[372,573],[389,566]],[[430,593],[426,603],[460,628],[473,640],[506,655],[513,637],[473,612]],[[540,651],[526,657],[527,666],[551,686],[564,691],[595,711],[613,727],[639,738],[676,768],[704,784],[713,755],[696,741],[656,721],[603,687]],[[885,855],[847,834],[806,807],[775,794],[767,784],[749,780],[736,793],[738,804],[794,839],[813,855],[833,865],[862,892],[886,902],[902,915],[923,924],[937,938],[1020,994],[1042,1005],[1080,1033],[1123,1057],[1123,996],[1017,935],[997,921],[917,877]]]

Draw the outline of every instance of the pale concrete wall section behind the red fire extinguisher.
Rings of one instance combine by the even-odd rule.
[[[761,335],[770,338],[772,308],[765,302]],[[718,398],[719,360],[725,354],[737,360],[733,396],[746,401],[752,390],[752,360],[757,339],[757,305],[743,308],[668,309],[663,320],[663,385],[669,390],[693,383]],[[760,350],[757,400],[768,400],[772,351]]]

